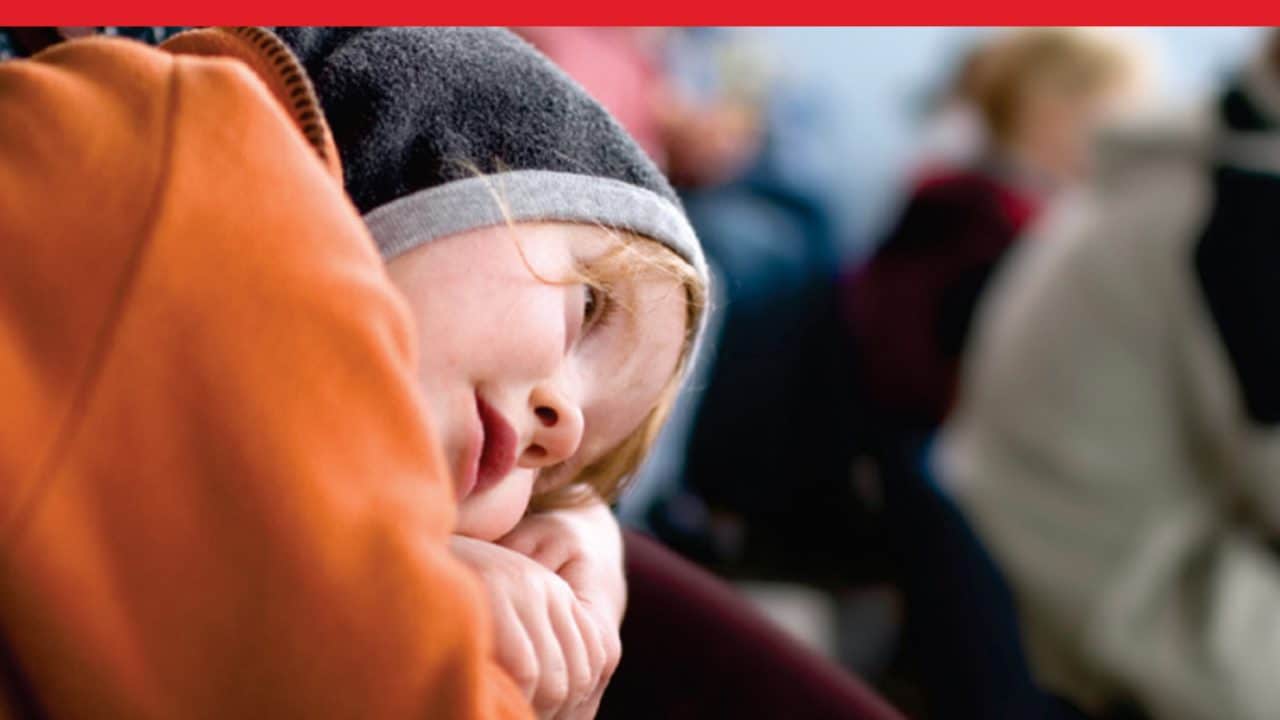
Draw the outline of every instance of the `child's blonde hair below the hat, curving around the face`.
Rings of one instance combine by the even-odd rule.
[[[553,510],[575,507],[599,497],[613,502],[626,489],[627,480],[635,474],[645,455],[658,439],[662,425],[676,402],[681,380],[692,360],[694,342],[703,313],[707,309],[707,286],[684,258],[676,255],[666,245],[635,233],[609,231],[617,240],[613,249],[600,259],[593,260],[591,268],[575,282],[588,282],[608,291],[609,284],[641,272],[658,270],[676,279],[685,291],[685,338],[680,360],[671,379],[658,396],[658,402],[645,415],[640,425],[626,438],[605,451],[604,455],[584,466],[567,483],[534,495],[529,510]],[[634,311],[634,309],[622,309]]]

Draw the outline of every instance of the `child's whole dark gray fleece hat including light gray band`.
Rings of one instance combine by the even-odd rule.
[[[664,243],[707,279],[671,184],[595,100],[498,28],[282,28],[385,259],[506,222]]]

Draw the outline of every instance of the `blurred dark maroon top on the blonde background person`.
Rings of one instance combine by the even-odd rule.
[[[845,305],[869,400],[900,423],[946,416],[982,290],[1039,209],[995,176],[923,179],[869,263],[846,278]]]

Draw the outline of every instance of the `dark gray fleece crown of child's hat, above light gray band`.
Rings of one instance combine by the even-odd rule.
[[[504,170],[614,178],[675,192],[617,122],[499,28],[285,28],[325,108],[347,191],[367,213]]]

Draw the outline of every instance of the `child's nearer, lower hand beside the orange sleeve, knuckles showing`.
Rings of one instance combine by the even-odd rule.
[[[506,547],[453,536],[453,552],[480,575],[494,614],[497,660],[540,717],[589,720],[608,678],[612,635],[556,573]]]

